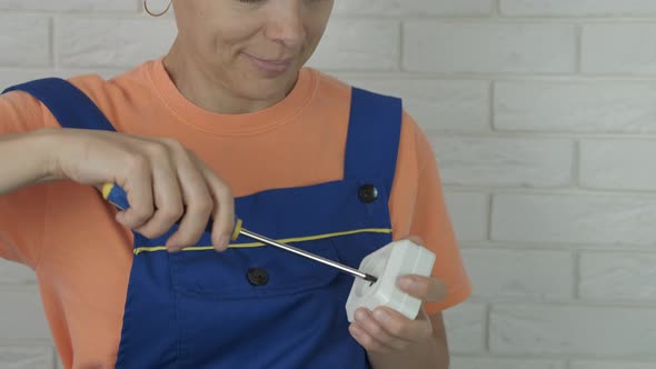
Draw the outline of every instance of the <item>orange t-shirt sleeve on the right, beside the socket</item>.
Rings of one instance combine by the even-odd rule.
[[[446,285],[447,296],[443,301],[425,303],[426,311],[434,313],[464,301],[471,287],[447,212],[437,159],[426,136],[407,113],[389,208],[394,239],[418,236],[436,255],[433,276]]]

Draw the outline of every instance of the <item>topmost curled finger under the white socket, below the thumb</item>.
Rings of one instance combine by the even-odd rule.
[[[386,307],[376,308],[372,317],[384,331],[406,343],[421,342],[433,335],[429,319],[408,319],[400,312]]]

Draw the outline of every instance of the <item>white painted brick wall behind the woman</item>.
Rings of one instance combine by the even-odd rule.
[[[139,0],[0,0],[0,87],[166,51]],[[474,282],[455,369],[656,365],[656,1],[336,0],[310,63],[425,128]],[[29,270],[0,262],[0,368],[54,368]]]

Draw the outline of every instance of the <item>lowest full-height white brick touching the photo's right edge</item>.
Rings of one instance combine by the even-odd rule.
[[[490,351],[497,353],[654,357],[655,339],[654,309],[543,303],[490,310]]]

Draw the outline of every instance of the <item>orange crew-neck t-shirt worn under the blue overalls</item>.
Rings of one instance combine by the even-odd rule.
[[[193,150],[236,197],[341,179],[350,88],[316,70],[301,70],[297,84],[279,103],[247,114],[218,114],[196,107],[177,90],[161,60],[109,81],[85,76],[71,82],[117,130],[172,137]],[[0,133],[43,127],[59,124],[34,98],[23,92],[0,97]],[[467,298],[469,280],[435,156],[408,114],[404,114],[389,209],[395,239],[417,235],[437,255],[433,273],[446,283],[448,295],[441,302],[427,303],[428,312]],[[113,207],[98,190],[71,181],[0,196],[0,257],[36,270],[67,368],[113,366],[116,360],[132,235],[113,215]]]

